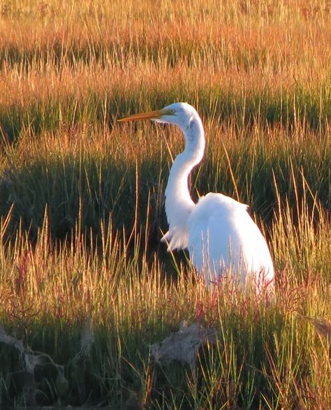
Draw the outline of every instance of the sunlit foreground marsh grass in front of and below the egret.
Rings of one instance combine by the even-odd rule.
[[[277,297],[267,306],[256,295],[244,295],[226,283],[218,292],[207,290],[184,267],[175,281],[167,279],[160,262],[147,256],[147,249],[139,249],[138,237],[128,256],[125,239],[105,226],[98,251],[78,235],[78,228],[73,242],[53,249],[45,219],[34,247],[21,234],[15,244],[1,248],[1,300],[7,300],[1,307],[3,324],[32,349],[66,363],[80,350],[84,323],[92,321],[89,356],[82,358],[79,373],[71,374],[70,365],[66,369],[69,380],[73,377],[71,388],[80,389],[72,402],[85,400],[88,391],[110,395],[113,403],[116,397],[125,402],[133,390],[140,391],[146,404],[161,403],[163,397],[169,407],[174,400],[177,406],[183,401],[193,408],[212,409],[216,403],[229,408],[235,403],[269,403],[275,408],[277,402],[285,407],[300,400],[309,403],[309,388],[314,400],[328,403],[328,341],[318,338],[297,314],[330,312],[330,226],[323,224],[324,230],[304,236],[303,231],[311,229],[309,214],[301,228],[295,228],[289,216],[281,217],[271,238],[276,256],[284,261],[286,253],[288,265],[279,270]],[[296,233],[300,247],[291,243]],[[318,251],[318,261],[325,266],[314,258],[302,261],[302,255],[295,254],[300,248]],[[196,369],[156,365],[149,344],[182,321],[193,320],[218,330],[216,345],[201,353]],[[22,368],[19,362],[17,366]],[[10,369],[5,358],[3,368],[5,374]],[[56,396],[56,374],[42,369]],[[49,392],[47,397],[52,400]]]

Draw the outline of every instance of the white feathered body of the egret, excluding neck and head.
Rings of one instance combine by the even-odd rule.
[[[189,217],[189,253],[207,283],[231,272],[272,281],[274,268],[265,238],[247,205],[221,193],[200,198]]]

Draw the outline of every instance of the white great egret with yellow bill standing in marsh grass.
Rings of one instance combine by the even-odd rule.
[[[272,284],[274,267],[267,242],[244,205],[222,193],[207,193],[193,203],[188,178],[203,159],[205,133],[198,112],[187,103],[119,119],[152,119],[175,124],[182,130],[185,149],[172,163],[165,189],[169,230],[162,240],[168,250],[189,249],[193,265],[207,284],[229,272],[241,282],[252,278],[256,286]]]

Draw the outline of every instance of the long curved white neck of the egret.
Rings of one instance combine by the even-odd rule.
[[[189,174],[203,159],[205,133],[198,115],[191,117],[186,127],[180,127],[185,137],[185,149],[172,163],[168,184],[165,189],[165,212],[170,233],[172,230],[186,229],[193,200],[189,192]]]

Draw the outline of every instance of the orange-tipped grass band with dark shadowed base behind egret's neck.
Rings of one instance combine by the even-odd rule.
[[[293,204],[304,198],[309,209],[316,200],[322,209],[330,207],[328,135],[302,130],[302,140],[300,129],[290,135],[257,125],[240,131],[235,124],[219,129],[214,119],[206,129],[206,158],[191,180],[196,199],[221,191],[249,203],[266,221],[274,219],[279,201]],[[149,209],[149,234],[153,242],[158,240],[159,226],[166,227],[163,191],[170,162],[162,151],[166,144],[175,156],[182,149],[182,136],[152,124],[136,130],[114,124],[111,131],[101,130],[103,135],[90,128],[46,133],[43,141],[27,136],[15,151],[8,150],[10,167],[0,184],[1,213],[14,203],[13,223],[18,226],[20,221],[35,237],[47,206],[52,237],[63,238],[78,220],[94,233],[99,232],[99,221],[109,216],[115,228],[126,226],[130,231],[137,222],[145,226]],[[169,137],[173,131],[175,136]],[[293,207],[295,219],[301,212]]]

